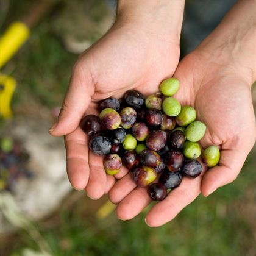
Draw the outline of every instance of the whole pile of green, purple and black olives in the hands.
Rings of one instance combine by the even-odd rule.
[[[198,141],[207,127],[196,121],[193,107],[182,107],[173,97],[179,87],[179,80],[169,78],[160,84],[159,93],[146,98],[129,90],[121,101],[104,99],[98,103],[99,116],[87,115],[80,123],[91,136],[90,150],[105,155],[107,174],[115,175],[125,165],[138,186],[149,185],[149,196],[155,201],[165,199],[183,176],[199,176],[200,156],[208,167],[219,162],[217,146],[201,152]]]

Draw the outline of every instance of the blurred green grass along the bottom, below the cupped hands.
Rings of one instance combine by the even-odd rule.
[[[146,226],[145,212],[131,221],[119,221],[115,213],[96,219],[99,202],[82,196],[39,222],[38,229],[54,255],[255,255],[253,158],[251,154],[235,182],[207,198],[199,196],[162,227]],[[13,252],[37,249],[25,232],[13,244]]]

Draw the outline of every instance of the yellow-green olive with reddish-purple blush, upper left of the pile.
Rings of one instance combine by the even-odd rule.
[[[118,112],[112,108],[102,110],[102,112],[99,113],[99,119],[108,130],[117,129],[121,124],[121,118]]]

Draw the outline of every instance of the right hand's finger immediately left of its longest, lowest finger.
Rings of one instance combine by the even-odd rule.
[[[116,207],[116,215],[123,221],[137,216],[150,202],[148,187],[137,187]]]

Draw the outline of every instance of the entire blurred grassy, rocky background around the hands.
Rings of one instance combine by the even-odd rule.
[[[182,55],[214,29],[233,2],[187,1]],[[144,224],[147,209],[119,221],[107,196],[92,201],[69,185],[63,139],[47,131],[59,114],[77,56],[111,26],[115,4],[0,0],[5,46],[18,48],[13,43],[18,33],[26,41],[0,62],[0,255],[255,256],[255,147],[235,182],[199,196],[163,227]],[[24,21],[30,34],[13,21]],[[255,107],[255,85],[252,97]]]

